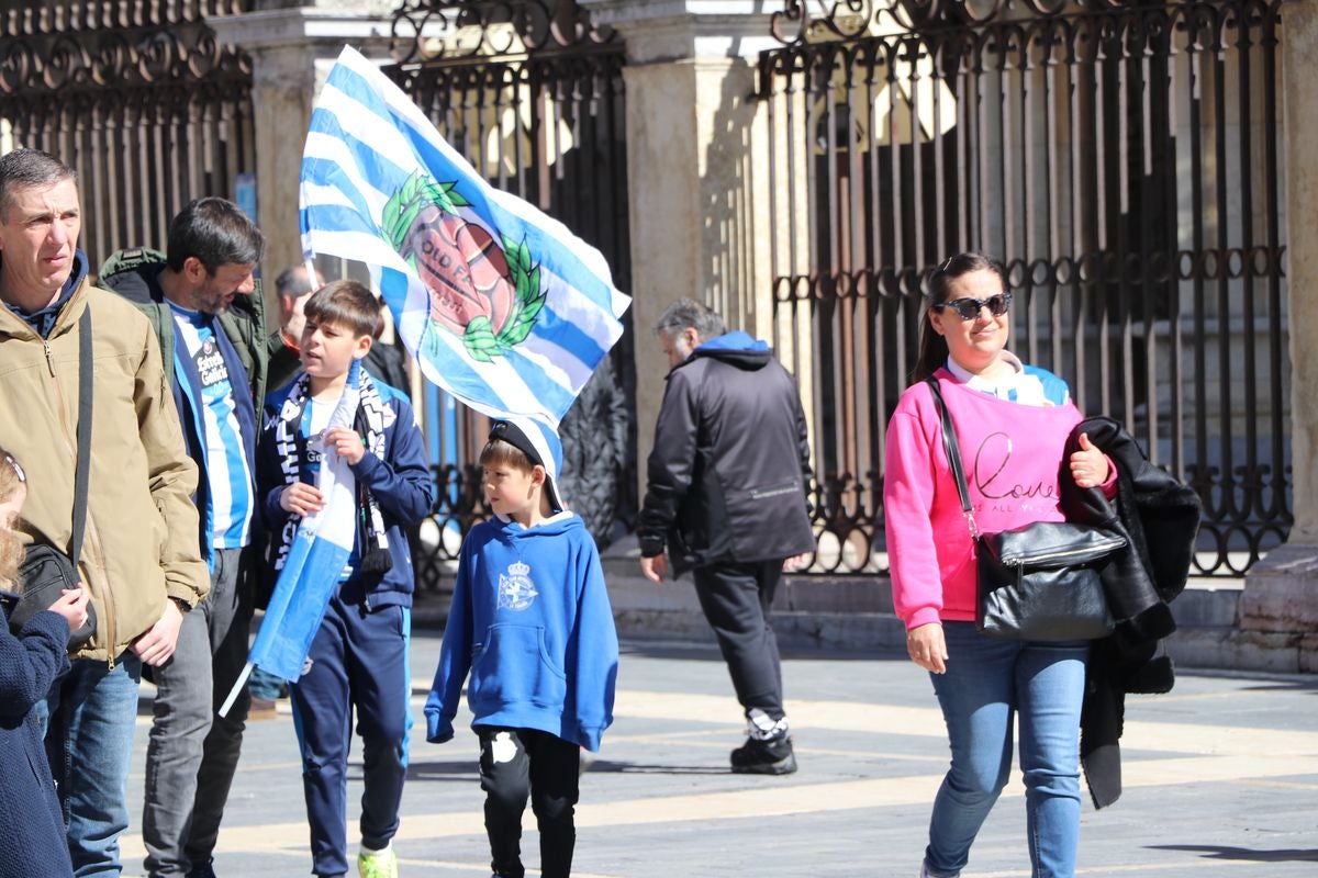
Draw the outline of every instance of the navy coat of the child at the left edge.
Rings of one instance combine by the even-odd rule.
[[[0,873],[5,875],[74,873],[41,724],[32,710],[69,670],[67,644],[62,616],[40,612],[14,637],[0,609]]]

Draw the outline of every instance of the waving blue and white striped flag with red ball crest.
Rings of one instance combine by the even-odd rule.
[[[302,249],[365,262],[424,375],[492,417],[552,425],[622,334],[598,250],[490,187],[344,47],[302,155]]]

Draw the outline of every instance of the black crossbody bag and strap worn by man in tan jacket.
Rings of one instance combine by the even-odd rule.
[[[36,613],[58,600],[65,588],[76,588],[82,579],[78,575],[78,557],[82,554],[83,529],[87,524],[87,478],[91,466],[91,305],[83,311],[78,333],[78,462],[74,467],[72,545],[67,555],[42,542],[28,546],[22,563],[18,566],[22,594],[17,596],[13,608],[8,611],[9,631],[14,634],[21,632]],[[69,633],[69,649],[78,649],[95,633],[96,609],[88,603],[87,621]]]

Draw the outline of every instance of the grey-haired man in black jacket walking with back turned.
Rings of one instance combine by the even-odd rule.
[[[738,774],[796,770],[768,608],[783,570],[815,550],[805,415],[796,382],[763,341],[728,332],[691,299],[655,334],[668,355],[648,487],[637,534],[641,569],[662,582],[695,570],[700,606],[746,712]]]

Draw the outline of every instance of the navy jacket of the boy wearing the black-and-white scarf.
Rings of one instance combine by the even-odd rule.
[[[291,517],[279,505],[279,495],[285,488],[283,455],[279,453],[278,425],[283,400],[293,390],[293,382],[265,398],[265,429],[256,453],[256,482],[261,498],[261,515],[270,532],[272,542],[277,542],[283,525]],[[426,444],[411,403],[402,391],[377,380],[376,388],[381,400],[394,412],[394,423],[385,428],[385,455],[377,457],[366,449],[365,455],[352,467],[353,478],[365,484],[380,504],[389,537],[389,554],[393,566],[377,582],[374,577],[356,575],[339,588],[339,598],[345,603],[365,603],[372,609],[377,607],[411,607],[415,577],[413,574],[411,552],[403,528],[410,527],[430,515],[435,503],[435,480],[426,462]],[[293,424],[295,433],[298,424]],[[299,478],[312,484],[314,474],[307,469],[304,455],[299,455]],[[362,521],[357,509],[358,525]],[[357,550],[360,554],[364,537],[362,527],[357,528]],[[277,549],[278,546],[275,546]]]

